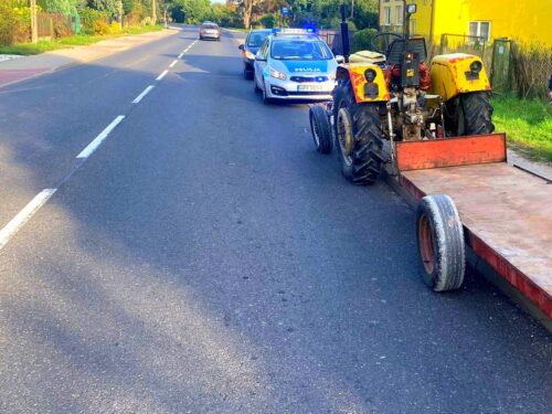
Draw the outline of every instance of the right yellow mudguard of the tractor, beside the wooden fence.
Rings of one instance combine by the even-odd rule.
[[[459,94],[490,91],[490,82],[479,56],[454,53],[432,60],[432,94],[444,102]]]

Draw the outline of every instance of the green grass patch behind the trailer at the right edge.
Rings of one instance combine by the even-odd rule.
[[[512,148],[531,158],[552,162],[552,105],[548,99],[497,96],[492,106],[496,130],[506,132]]]

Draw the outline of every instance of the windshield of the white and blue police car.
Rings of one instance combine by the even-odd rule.
[[[276,60],[327,61],[333,57],[330,49],[322,41],[276,40],[270,55]]]

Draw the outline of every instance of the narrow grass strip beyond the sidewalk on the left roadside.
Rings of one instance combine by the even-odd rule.
[[[107,39],[120,38],[129,34],[142,34],[147,32],[158,32],[164,28],[160,24],[158,25],[142,25],[142,26],[131,26],[126,28],[120,33],[116,34],[105,34],[105,35],[86,35],[78,34],[68,38],[61,38],[54,41],[40,41],[39,43],[20,43],[11,46],[0,45],[0,54],[19,54],[23,56],[44,53],[49,51],[55,51],[57,49],[66,49],[72,46],[82,46],[87,44],[93,44]]]

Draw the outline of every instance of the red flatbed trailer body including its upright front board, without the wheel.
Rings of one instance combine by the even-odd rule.
[[[465,243],[550,327],[552,184],[506,161],[503,134],[396,142],[396,169],[388,181],[415,200],[450,197]]]

